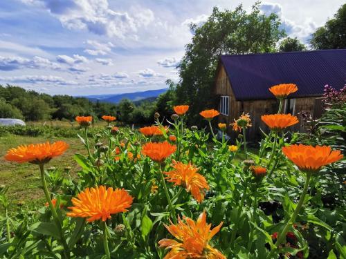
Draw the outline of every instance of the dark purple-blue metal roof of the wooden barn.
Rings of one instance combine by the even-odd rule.
[[[346,49],[223,55],[221,64],[237,100],[272,99],[268,88],[275,84],[296,84],[291,97],[322,95],[326,84],[346,84]]]

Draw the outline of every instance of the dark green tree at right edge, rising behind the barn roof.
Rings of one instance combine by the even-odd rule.
[[[318,50],[346,48],[346,3],[313,33],[310,44]]]

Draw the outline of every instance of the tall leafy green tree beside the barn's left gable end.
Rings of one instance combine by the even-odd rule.
[[[190,123],[198,122],[199,111],[215,103],[210,97],[219,57],[275,51],[275,44],[285,35],[279,26],[277,15],[266,16],[260,12],[259,2],[250,13],[242,5],[235,10],[214,8],[203,26],[191,25],[194,36],[179,65],[181,79],[176,86],[179,104],[190,104],[190,114],[194,115]]]

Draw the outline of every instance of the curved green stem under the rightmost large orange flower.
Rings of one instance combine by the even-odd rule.
[[[292,227],[293,223],[295,222],[295,218],[297,218],[298,213],[299,213],[300,209],[302,208],[302,204],[304,204],[304,198],[305,198],[305,195],[307,194],[307,189],[309,187],[310,178],[311,178],[311,173],[307,173],[307,179],[305,180],[304,188],[302,190],[302,194],[300,195],[300,199],[299,199],[299,202],[297,204],[297,207],[295,207],[295,211],[291,215],[291,218],[286,223],[286,226],[281,231],[280,235],[277,237],[277,241],[275,242],[275,248],[272,249],[270,253],[268,253],[268,256],[266,257],[267,259],[270,259],[274,256],[275,252],[277,251],[277,247],[280,244],[282,244],[282,242],[286,238],[286,233],[289,231],[289,228]]]

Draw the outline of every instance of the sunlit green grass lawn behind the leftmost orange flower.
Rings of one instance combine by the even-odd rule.
[[[46,137],[28,137],[19,135],[4,135],[0,137],[0,184],[9,186],[7,197],[10,200],[10,211],[15,211],[18,202],[25,202],[29,209],[41,207],[44,204],[44,193],[38,186],[41,185],[39,180],[38,166],[35,164],[18,164],[7,162],[3,156],[9,148],[21,144],[54,142],[59,138]],[[64,169],[65,166],[71,166],[71,173],[75,173],[80,168],[73,160],[74,153],[84,153],[84,146],[78,138],[61,139],[69,143],[69,149],[60,157],[55,157],[46,165],[55,166],[57,169]],[[2,208],[0,208],[2,211]]]

